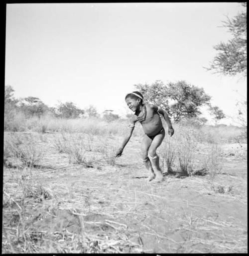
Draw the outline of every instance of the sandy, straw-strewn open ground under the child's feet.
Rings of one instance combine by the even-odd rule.
[[[93,168],[41,173],[69,165],[50,143],[52,135],[43,136],[43,168],[22,184],[40,184],[47,197],[23,198],[20,171],[4,168],[3,254],[248,252],[246,144],[222,146],[220,174],[164,174],[161,183],[147,183],[139,139],[127,144],[113,166],[102,160]],[[11,244],[18,225],[26,235]]]

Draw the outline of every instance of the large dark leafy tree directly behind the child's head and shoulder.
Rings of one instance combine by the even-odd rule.
[[[210,105],[211,97],[203,88],[187,84],[185,81],[169,82],[165,85],[157,80],[151,85],[134,86],[143,94],[147,102],[164,108],[176,122],[183,117],[197,117],[201,114],[201,106]]]

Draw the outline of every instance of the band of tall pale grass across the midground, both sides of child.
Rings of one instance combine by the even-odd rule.
[[[4,116],[4,130],[7,131],[76,132],[110,137],[113,135],[124,136],[128,124],[129,119],[119,119],[111,122],[96,117],[63,119],[56,118],[48,113],[40,118],[37,116],[27,118],[22,112],[16,110],[12,110]],[[194,119],[174,124],[175,127],[191,128],[195,131],[196,139],[200,143],[247,143],[247,132],[243,127],[198,125],[198,122]],[[133,136],[139,137],[141,133],[142,128],[137,124]]]

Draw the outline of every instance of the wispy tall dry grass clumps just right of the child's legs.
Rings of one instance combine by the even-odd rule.
[[[193,126],[175,125],[175,134],[167,134],[159,147],[161,165],[172,173],[177,166],[180,176],[217,174],[222,169],[221,147],[219,144],[200,143],[197,130]],[[178,160],[176,163],[175,160]]]

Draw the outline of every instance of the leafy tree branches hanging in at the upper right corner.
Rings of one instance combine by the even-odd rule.
[[[247,7],[246,2],[241,3]],[[214,60],[207,70],[214,70],[215,73],[224,75],[247,76],[247,10],[239,12],[234,18],[227,17],[223,21],[233,38],[227,43],[221,42],[214,47],[218,51]]]

